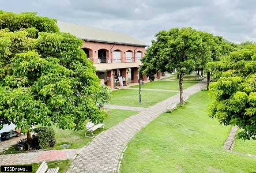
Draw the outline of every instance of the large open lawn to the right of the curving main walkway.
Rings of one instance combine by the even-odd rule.
[[[208,117],[206,91],[163,113],[129,143],[121,173],[253,173],[256,159],[223,149],[230,127]]]

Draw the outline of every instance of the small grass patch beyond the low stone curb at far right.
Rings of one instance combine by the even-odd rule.
[[[241,132],[241,131],[242,130],[239,129],[238,132]],[[256,141],[252,139],[244,141],[242,139],[236,138],[235,146],[233,150],[256,155]]]

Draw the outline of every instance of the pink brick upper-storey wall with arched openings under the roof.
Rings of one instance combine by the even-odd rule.
[[[106,49],[107,50],[107,57],[110,58],[111,62],[113,62],[113,51],[120,50],[121,51],[121,61],[126,61],[126,51],[132,51],[132,58],[133,62],[136,62],[136,52],[142,52],[142,57],[145,55],[146,49],[142,46],[133,46],[133,45],[118,45],[118,44],[110,44],[110,43],[101,43],[101,42],[93,42],[93,41],[85,41],[83,43],[82,48],[87,48],[90,50],[90,59],[94,61],[94,64],[98,63],[98,50],[99,49]],[[112,49],[111,49],[112,48]],[[112,53],[111,53],[111,51]],[[134,53],[135,52],[135,53]]]

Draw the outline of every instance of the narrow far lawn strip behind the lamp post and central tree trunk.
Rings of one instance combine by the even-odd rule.
[[[183,89],[191,87],[195,85],[198,81],[189,81],[183,82]],[[134,85],[132,88],[139,88],[139,85]],[[179,83],[178,81],[153,81],[149,83],[145,83],[141,85],[141,88],[149,88],[149,89],[160,89],[160,90],[179,90]]]

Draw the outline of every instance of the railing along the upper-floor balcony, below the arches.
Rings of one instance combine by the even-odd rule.
[[[126,57],[122,59],[121,57],[90,57],[88,60],[92,60],[94,64],[102,64],[102,63],[131,63],[131,62],[140,62],[141,58],[134,60],[133,57]]]

